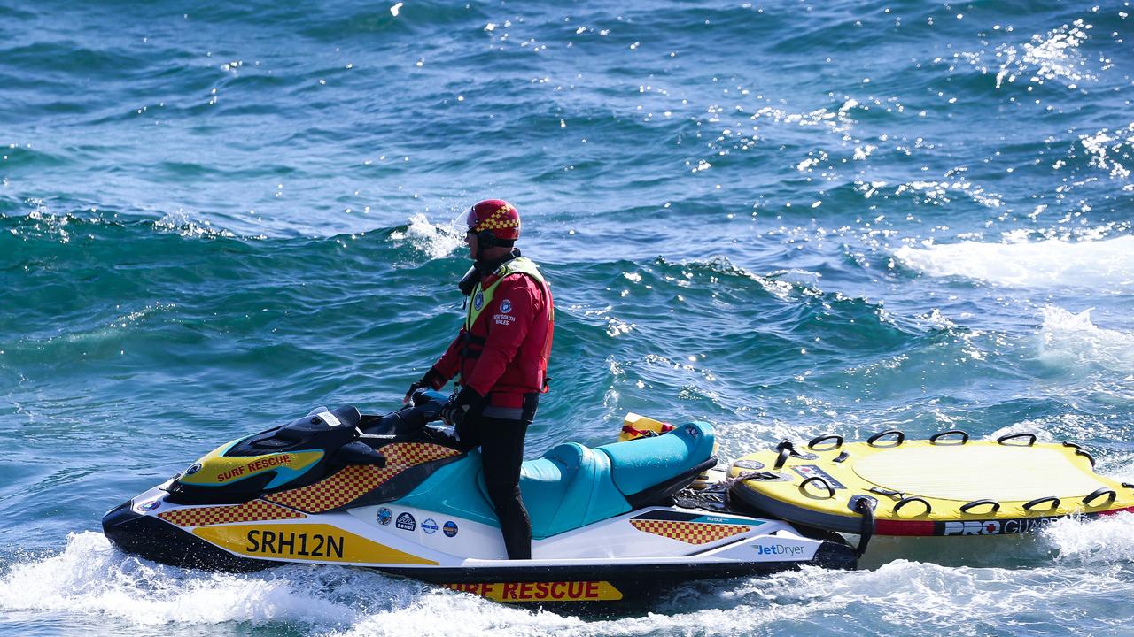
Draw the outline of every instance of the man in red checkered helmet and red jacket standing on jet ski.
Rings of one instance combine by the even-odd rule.
[[[483,201],[465,218],[473,267],[458,286],[469,297],[465,324],[445,355],[409,385],[441,389],[458,376],[460,391],[441,411],[468,449],[481,448],[484,483],[496,507],[510,560],[532,557],[532,524],[519,493],[524,435],[548,391],[555,308],[535,263],[513,247],[519,213],[500,199]]]

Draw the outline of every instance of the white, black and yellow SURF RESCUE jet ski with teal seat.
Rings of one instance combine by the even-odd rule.
[[[855,567],[837,534],[691,491],[717,462],[712,426],[697,422],[593,449],[567,442],[525,461],[532,559],[509,561],[480,452],[430,424],[443,401],[422,391],[384,416],[319,408],[228,442],[109,511],[104,533],[178,567],[348,564],[548,606],[804,564]]]

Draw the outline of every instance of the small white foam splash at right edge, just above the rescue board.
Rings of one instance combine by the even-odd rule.
[[[1039,359],[1052,367],[1134,373],[1134,333],[1099,328],[1090,309],[1044,307],[1039,341]]]

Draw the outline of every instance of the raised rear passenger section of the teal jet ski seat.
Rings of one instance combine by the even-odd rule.
[[[662,435],[603,444],[596,451],[610,458],[615,484],[629,496],[704,464],[712,458],[714,440],[712,425],[696,422]]]

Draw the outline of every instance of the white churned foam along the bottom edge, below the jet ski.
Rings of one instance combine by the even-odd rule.
[[[333,566],[252,575],[175,569],[126,557],[102,535],[81,533],[68,538],[61,554],[18,563],[0,577],[0,613],[67,615],[71,627],[84,623],[85,615],[93,615],[92,626],[104,626],[98,618],[113,618],[136,636],[192,626],[214,631],[237,623],[339,637],[725,636],[776,632],[785,622],[812,631],[829,630],[836,622],[855,632],[869,629],[871,615],[895,626],[979,635],[997,622],[1018,619],[1022,608],[1038,609],[1041,621],[1058,628],[1069,610],[1129,595],[1134,585],[1108,564],[1134,557],[1131,529],[1134,516],[1052,525],[1043,541],[1058,550],[1065,564],[1030,569],[1025,580],[1014,569],[953,568],[904,559],[862,571],[805,567],[768,578],[736,578],[727,586],[682,587],[658,600],[655,612],[606,620],[502,606]],[[988,550],[981,546],[989,544],[971,540],[965,550]],[[1093,617],[1110,621],[1106,612]]]

